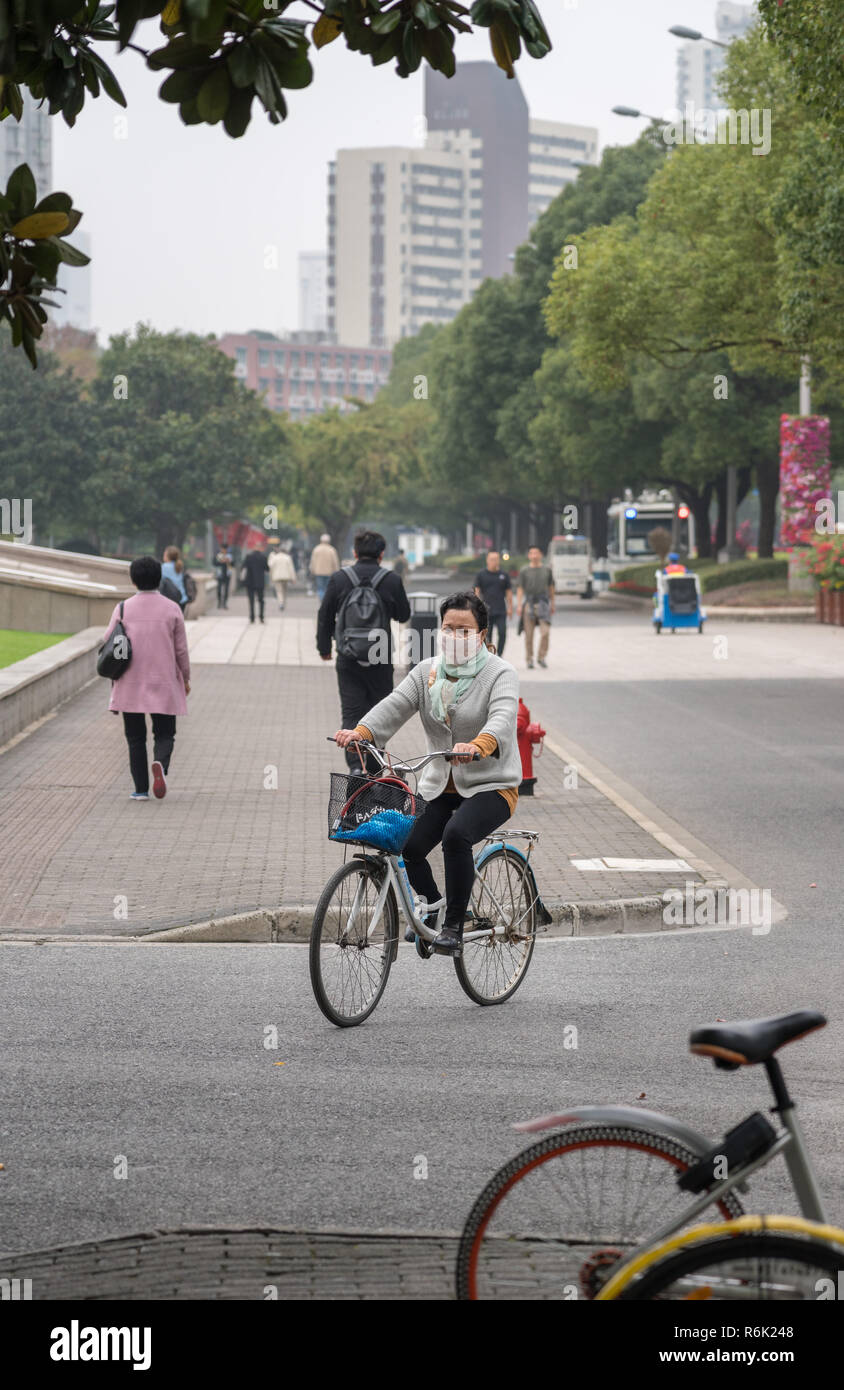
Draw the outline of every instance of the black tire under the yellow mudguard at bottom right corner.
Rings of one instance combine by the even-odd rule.
[[[762,1265],[772,1259],[784,1259],[790,1265],[805,1265],[806,1269],[822,1270],[834,1277],[834,1287],[838,1287],[837,1276],[844,1272],[844,1250],[811,1236],[788,1236],[781,1232],[758,1232],[742,1236],[716,1236],[715,1238],[699,1241],[687,1250],[677,1250],[656,1265],[648,1269],[640,1279],[634,1279],[617,1297],[617,1302],[642,1302],[662,1298],[666,1301],[687,1301],[690,1298],[712,1297],[713,1284],[701,1282],[698,1291],[684,1289],[677,1293],[677,1300],[672,1300],[667,1290],[681,1279],[698,1276],[704,1280],[705,1270],[717,1264],[736,1264],[736,1261],[758,1261],[759,1275]],[[770,1277],[770,1275],[769,1275]],[[715,1280],[713,1280],[715,1283]],[[737,1280],[740,1283],[740,1280]],[[747,1289],[747,1282],[744,1282]],[[709,1290],[709,1293],[706,1291]],[[726,1290],[724,1290],[726,1291]],[[800,1295],[788,1291],[780,1294],[788,1301],[800,1302]],[[818,1298],[813,1286],[811,1297]],[[748,1294],[741,1294],[747,1301]],[[729,1302],[729,1298],[715,1300]],[[752,1301],[752,1300],[751,1300]],[[773,1301],[773,1298],[756,1298],[756,1302]]]

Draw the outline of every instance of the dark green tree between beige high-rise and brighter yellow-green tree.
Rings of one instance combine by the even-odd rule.
[[[598,527],[595,543],[601,545],[598,498],[602,489],[630,481],[630,463],[615,484],[608,484],[606,460],[619,459],[615,450],[610,456],[591,456],[590,475],[580,463],[574,468],[563,466],[542,427],[534,434],[533,421],[542,410],[548,373],[553,371],[544,368],[544,354],[558,346],[548,334],[542,302],[558,254],[588,227],[633,213],[663,158],[665,146],[645,132],[631,146],[605,150],[597,168],[581,168],[538,218],[530,240],[519,247],[514,274],[485,281],[457,318],[432,338],[431,468],[439,495],[451,500],[453,510],[491,524],[513,509],[535,518],[537,506],[549,513],[573,495],[583,496],[595,502],[591,520]],[[563,425],[560,396],[556,428],[574,436],[583,425],[583,392],[569,403],[578,424],[570,431]],[[595,399],[588,409],[606,414]],[[598,434],[601,428],[602,421],[595,420]]]

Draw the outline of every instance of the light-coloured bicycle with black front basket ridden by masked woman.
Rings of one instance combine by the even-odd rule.
[[[413,892],[402,849],[424,815],[424,801],[406,778],[416,778],[435,758],[451,760],[452,753],[398,762],[364,739],[359,746],[373,755],[380,773],[331,773],[328,838],[352,847],[353,855],[325,884],[310,933],[311,987],[338,1027],[356,1027],[378,1005],[399,951],[399,917],[413,930],[423,960],[430,959],[445,917],[445,898],[427,903]],[[474,1004],[513,997],[531,962],[537,930],[551,922],[530,863],[538,838],[533,830],[495,831],[476,851],[469,930],[463,954],[453,958]]]

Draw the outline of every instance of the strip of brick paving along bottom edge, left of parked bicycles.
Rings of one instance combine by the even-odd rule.
[[[179,1230],[0,1255],[32,1300],[445,1300],[456,1236]],[[22,1286],[21,1286],[22,1293]]]

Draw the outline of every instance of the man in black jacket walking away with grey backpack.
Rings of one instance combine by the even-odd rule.
[[[360,531],[355,537],[355,574],[360,584],[370,584],[373,575],[381,569],[381,559],[387,549],[387,541],[377,531]],[[336,617],[343,600],[352,592],[352,580],[342,570],[338,570],[328,580],[325,596],[320,605],[317,617],[317,651],[324,662],[331,660],[331,644],[335,635]],[[405,585],[393,570],[385,570],[384,578],[378,582],[378,596],[391,621],[406,623],[410,617],[410,605],[405,594]],[[339,687],[341,720],[343,728],[355,728],[367,709],[377,705],[392,691],[392,637],[389,628],[378,644],[378,656],[374,664],[362,664],[353,657],[336,655],[336,684]],[[346,748],[346,762],[349,769],[360,770],[360,758],[353,746]],[[377,766],[370,759],[370,771],[377,771]]]

